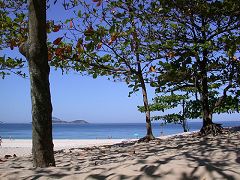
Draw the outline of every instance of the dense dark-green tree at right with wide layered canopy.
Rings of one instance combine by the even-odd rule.
[[[158,1],[149,9],[161,11],[147,17],[154,25],[152,41],[160,40],[166,52],[153,84],[156,92],[188,92],[191,88],[188,108],[201,112],[196,117],[203,118],[202,132],[212,132],[204,128],[214,128],[214,112],[238,111],[239,3]]]

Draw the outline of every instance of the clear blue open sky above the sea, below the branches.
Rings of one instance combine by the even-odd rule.
[[[55,17],[56,20],[61,19],[63,14],[70,16],[59,5],[48,10],[48,17]],[[21,56],[17,49],[0,53]],[[28,72],[28,69],[25,71]],[[141,91],[129,98],[129,89],[123,82],[111,82],[106,77],[93,79],[74,72],[62,75],[60,70],[51,69],[50,84],[53,116],[62,120],[83,119],[90,123],[145,122],[144,114],[137,111],[137,106],[143,104]],[[31,122],[30,80],[16,75],[7,76],[4,80],[0,79],[0,89],[0,121]],[[151,100],[154,89],[149,87],[148,92]],[[238,120],[239,115],[217,115],[214,119]]]

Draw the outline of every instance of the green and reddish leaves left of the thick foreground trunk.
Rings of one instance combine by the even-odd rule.
[[[26,5],[25,0],[0,2],[0,51],[8,48],[13,50],[26,41]],[[25,73],[21,71],[24,62],[17,57],[0,55],[0,76],[4,78],[13,73],[25,77]]]

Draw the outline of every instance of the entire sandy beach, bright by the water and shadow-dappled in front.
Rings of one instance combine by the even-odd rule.
[[[55,140],[56,167],[33,168],[31,140],[4,140],[0,179],[240,179],[240,131],[130,140]],[[6,151],[8,150],[8,151]],[[17,157],[4,158],[15,153]]]

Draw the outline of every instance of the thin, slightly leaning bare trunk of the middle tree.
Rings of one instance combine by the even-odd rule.
[[[139,141],[150,141],[155,139],[152,133],[152,125],[151,125],[151,116],[150,116],[150,110],[149,110],[149,104],[148,104],[148,97],[147,97],[147,88],[144,82],[144,79],[142,75],[139,75],[141,87],[142,87],[142,95],[143,95],[143,104],[145,108],[145,115],[146,115],[146,128],[147,128],[147,134],[145,137],[141,138]]]

